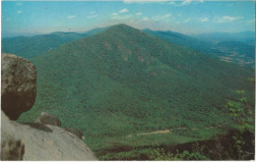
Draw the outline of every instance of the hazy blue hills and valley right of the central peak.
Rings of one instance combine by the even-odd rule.
[[[201,51],[205,54],[208,54],[212,57],[218,58],[225,62],[232,62],[242,66],[254,67],[255,45],[247,43],[247,41],[245,41],[246,37],[248,40],[254,39],[253,37],[251,37],[250,32],[244,32],[243,34],[223,33],[223,35],[222,33],[216,33],[217,35],[213,33],[213,35],[215,35],[216,37],[218,37],[218,35],[220,36],[220,40],[217,41],[216,39],[207,39],[209,37],[208,34],[202,34],[201,40],[194,37],[190,37],[188,35],[184,35],[182,33],[173,32],[169,30],[160,31],[144,29],[144,31],[152,35],[158,36],[161,39],[168,41],[170,43],[178,44],[181,46]],[[233,41],[232,38],[234,40],[239,41]]]

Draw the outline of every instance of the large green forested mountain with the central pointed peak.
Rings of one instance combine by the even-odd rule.
[[[107,159],[105,149],[177,144],[224,134],[227,101],[244,89],[254,105],[252,69],[242,68],[142,30],[117,25],[33,57],[35,105],[63,127],[84,132],[86,143]],[[138,135],[174,129],[171,134]],[[185,130],[181,130],[181,129]],[[196,131],[191,131],[196,129]],[[99,156],[100,154],[100,156]],[[130,156],[139,154],[130,152]]]

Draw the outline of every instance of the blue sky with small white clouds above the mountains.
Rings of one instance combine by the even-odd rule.
[[[2,36],[127,24],[185,34],[255,31],[255,2],[207,0],[2,1]]]

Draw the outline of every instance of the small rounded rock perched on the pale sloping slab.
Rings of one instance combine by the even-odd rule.
[[[61,126],[60,120],[57,117],[54,117],[45,112],[40,113],[40,116],[35,119],[35,123],[39,123],[42,125],[52,125],[52,126]]]

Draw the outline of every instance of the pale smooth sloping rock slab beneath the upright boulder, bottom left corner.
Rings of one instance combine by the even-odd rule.
[[[2,112],[2,114],[4,114]],[[1,159],[2,160],[27,160],[27,161],[95,161],[94,152],[76,135],[64,131],[60,127],[42,124],[21,124],[10,121],[7,118],[1,119],[2,135],[14,136],[16,144],[12,149],[3,146],[1,138]],[[10,131],[11,130],[11,131]],[[21,142],[19,142],[21,141]],[[10,142],[5,142],[10,143]],[[19,144],[21,143],[21,144]],[[6,144],[5,144],[6,145]],[[25,146],[25,149],[24,149]],[[12,150],[16,159],[10,159]],[[7,152],[7,153],[6,153]],[[9,152],[9,154],[8,154]],[[9,157],[9,158],[3,158]],[[19,158],[18,158],[19,157]]]

